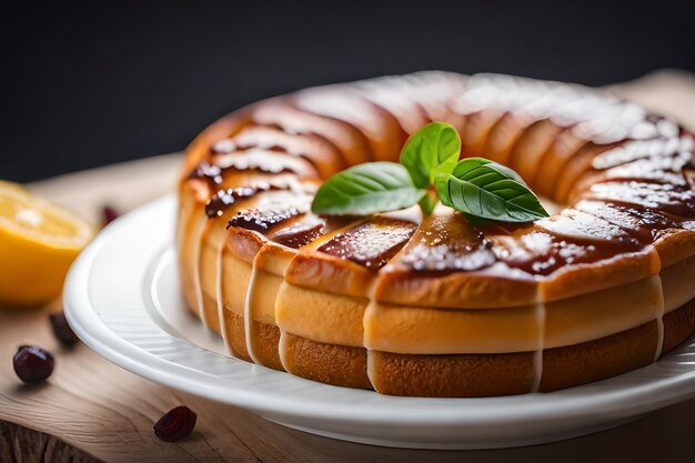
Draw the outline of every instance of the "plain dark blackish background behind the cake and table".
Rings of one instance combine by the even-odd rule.
[[[695,71],[695,2],[6,2],[0,178],[181,150],[251,101],[424,69]]]

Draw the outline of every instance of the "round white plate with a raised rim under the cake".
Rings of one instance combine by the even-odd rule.
[[[78,258],[64,290],[70,324],[141,376],[335,439],[419,449],[537,444],[615,426],[695,395],[695,343],[611,380],[548,394],[394,397],[338,387],[223,355],[185,310],[173,248],[175,198],[117,220]]]

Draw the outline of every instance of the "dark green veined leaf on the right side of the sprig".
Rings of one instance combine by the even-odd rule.
[[[484,158],[463,159],[449,174],[439,171],[435,189],[443,204],[480,219],[531,222],[548,215],[516,172]]]

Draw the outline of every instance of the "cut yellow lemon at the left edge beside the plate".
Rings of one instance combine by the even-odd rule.
[[[0,306],[39,305],[59,295],[93,233],[69,211],[0,181]]]

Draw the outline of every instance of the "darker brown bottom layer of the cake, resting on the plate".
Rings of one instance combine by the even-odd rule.
[[[210,306],[210,301],[207,301]],[[328,384],[374,389],[383,394],[464,397],[541,392],[604,380],[654,361],[659,341],[657,321],[598,340],[546,349],[542,362],[534,352],[502,354],[400,354],[312,341],[278,326],[223,311],[232,353],[260,364]],[[218,318],[209,319],[216,321]],[[220,332],[219,323],[211,323]],[[695,300],[663,318],[662,354],[695,331]],[[542,365],[540,379],[536,369]]]

